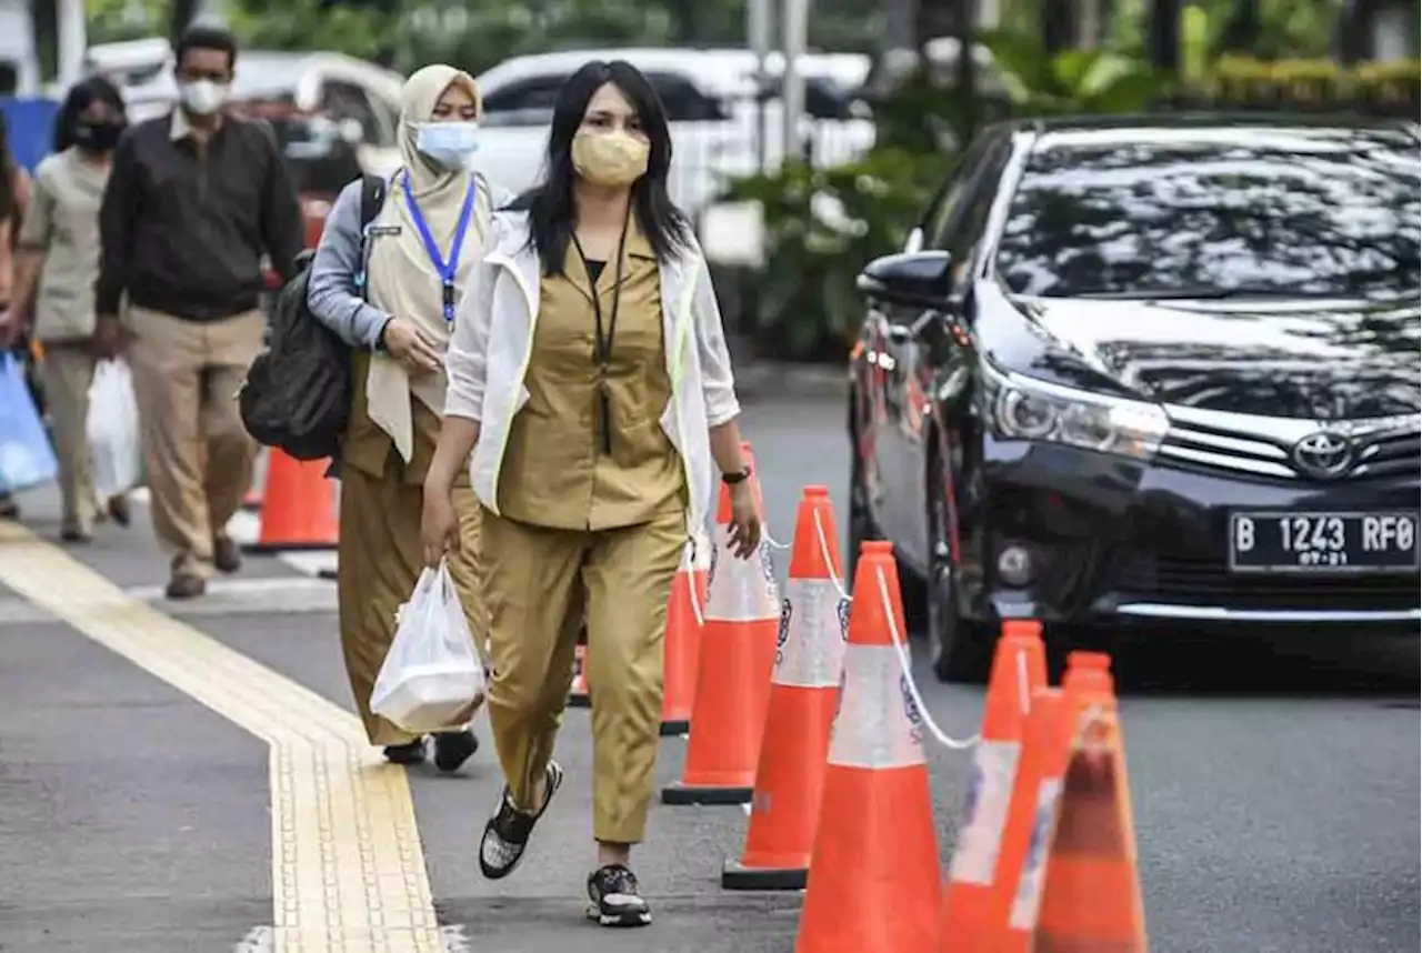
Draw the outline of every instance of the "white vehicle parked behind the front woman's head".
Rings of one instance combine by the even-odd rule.
[[[520,192],[539,179],[547,124],[559,88],[590,60],[627,60],[647,74],[667,105],[674,144],[671,196],[700,218],[731,176],[761,168],[757,58],[749,50],[626,48],[570,50],[513,57],[478,77],[483,92],[483,138],[475,164],[505,188]],[[772,58],[775,80],[784,63]],[[806,121],[802,135],[812,161],[838,165],[873,147],[875,128],[856,107],[855,88],[869,73],[869,58],[849,54],[809,55]],[[781,107],[765,110],[765,161],[784,154]]]

